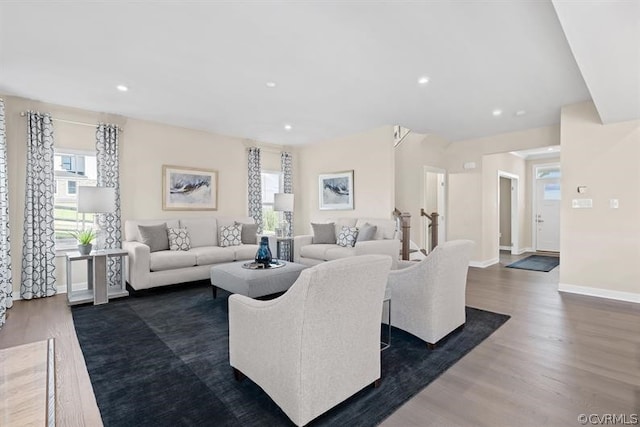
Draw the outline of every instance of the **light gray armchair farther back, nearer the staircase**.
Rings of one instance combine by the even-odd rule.
[[[463,326],[473,246],[471,240],[452,240],[420,262],[399,262],[400,269],[389,273],[391,324],[426,341],[429,348]]]

